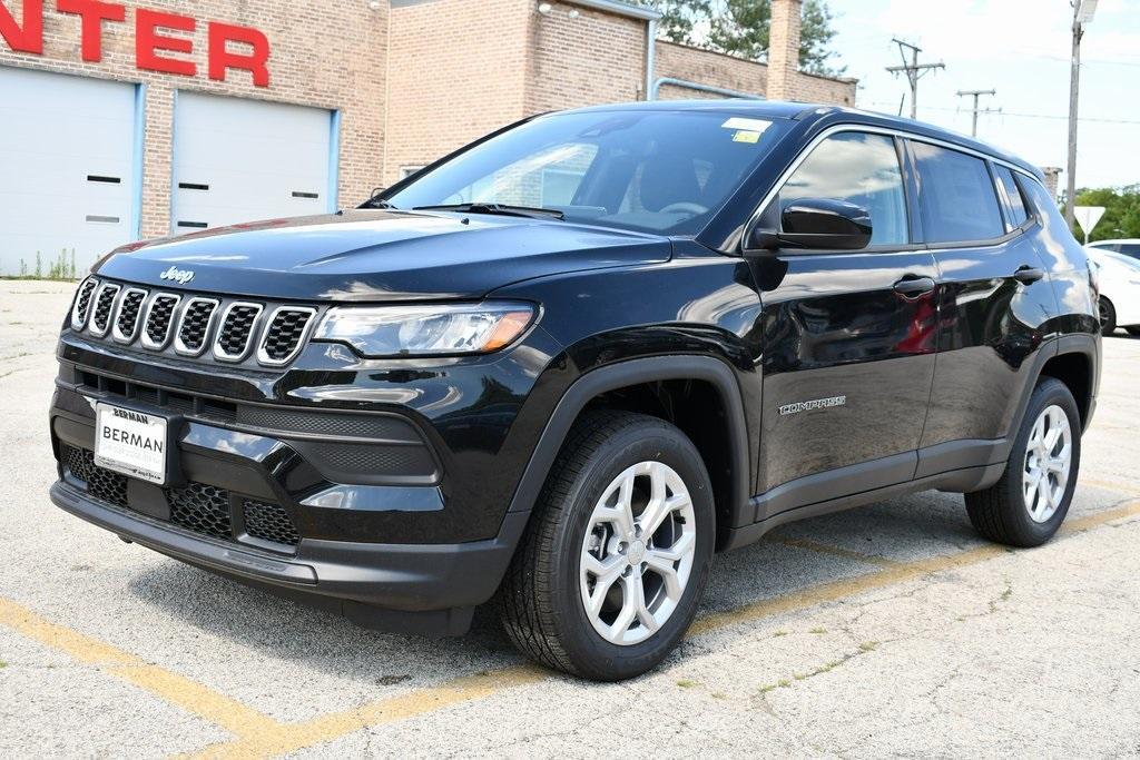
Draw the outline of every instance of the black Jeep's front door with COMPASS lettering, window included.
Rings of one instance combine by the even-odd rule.
[[[857,252],[782,250],[754,260],[764,303],[757,520],[909,481],[936,351],[934,258],[913,243],[901,141],[845,128],[780,190],[871,214]]]

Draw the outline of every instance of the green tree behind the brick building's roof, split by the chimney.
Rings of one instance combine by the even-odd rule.
[[[673,42],[763,60],[768,55],[772,0],[642,0],[665,14],[661,36]],[[846,67],[830,65],[834,51],[834,15],[825,0],[804,0],[799,36],[799,67],[812,74],[838,76]],[[703,33],[703,30],[708,30]]]

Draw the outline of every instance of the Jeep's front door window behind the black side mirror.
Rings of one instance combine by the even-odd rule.
[[[780,207],[801,198],[836,198],[866,209],[871,245],[910,243],[903,173],[891,137],[840,132],[825,139],[780,190]]]

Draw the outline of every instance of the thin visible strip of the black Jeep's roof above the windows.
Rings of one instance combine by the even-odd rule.
[[[1008,153],[985,142],[980,142],[971,137],[961,134],[953,130],[935,126],[921,121],[881,114],[858,108],[842,106],[830,106],[811,103],[785,103],[780,100],[651,100],[641,103],[624,103],[612,105],[591,106],[576,111],[692,111],[706,113],[723,113],[733,115],[756,116],[760,119],[785,119],[797,121],[815,121],[826,119],[832,123],[854,123],[896,129],[918,136],[929,137],[934,140],[948,142],[969,150],[984,153],[1007,163],[1024,169],[1039,179],[1043,179],[1041,169],[1025,161],[1024,158]]]

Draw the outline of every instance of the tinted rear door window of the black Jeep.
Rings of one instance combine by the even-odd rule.
[[[911,145],[927,243],[990,240],[1005,234],[997,189],[984,161],[928,142]]]

